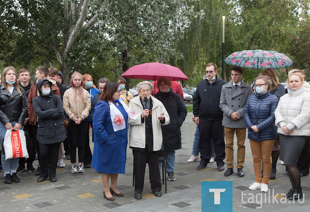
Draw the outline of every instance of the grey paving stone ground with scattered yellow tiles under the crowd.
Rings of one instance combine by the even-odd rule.
[[[182,149],[177,150],[175,155],[175,178],[176,181],[167,181],[167,193],[162,187],[162,197],[155,197],[148,182],[148,167],[146,170],[144,191],[142,199],[134,198],[134,187],[132,186],[133,156],[132,151],[127,148],[126,174],[119,174],[118,189],[125,197],[115,197],[115,201],[107,201],[103,197],[103,184],[94,169],[85,169],[82,174],[71,174],[70,162],[65,161],[66,167],[57,169],[57,182],[49,180],[37,183],[38,176],[34,173],[22,172],[18,174],[20,183],[4,184],[3,173],[0,179],[0,211],[200,211],[201,210],[201,181],[233,181],[233,211],[309,211],[310,199],[310,177],[301,178],[304,192],[303,203],[287,202],[280,203],[281,195],[276,200],[279,203],[248,202],[249,195],[245,195],[243,202],[241,192],[250,193],[248,187],[254,182],[253,160],[250,152],[249,140],[246,139],[246,160],[244,164],[245,176],[237,176],[237,169],[232,176],[224,177],[223,171],[217,171],[215,162],[208,164],[204,170],[196,170],[199,161],[187,163],[193,146],[193,137],[196,125],[192,121],[192,114],[188,113],[182,130]],[[235,138],[236,139],[236,138]],[[93,143],[91,142],[91,149]],[[234,146],[235,159],[237,145]],[[111,158],[113,161],[113,158]],[[236,164],[236,162],[235,162]],[[38,161],[34,162],[37,167]],[[226,170],[226,166],[225,166]],[[270,180],[268,187],[276,193],[286,193],[290,187],[290,181],[285,166],[277,164],[277,175],[275,180]],[[254,195],[260,195],[260,190],[251,191]],[[265,193],[263,193],[265,195]],[[267,199],[272,196],[266,194]],[[263,196],[264,197],[264,196]]]

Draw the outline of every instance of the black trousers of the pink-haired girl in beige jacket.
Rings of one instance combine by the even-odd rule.
[[[85,119],[80,124],[75,124],[74,121],[70,121],[67,126],[70,138],[70,161],[76,163],[77,160],[77,147],[78,147],[78,161],[80,163],[84,160],[85,152],[85,136],[87,132],[88,121]]]

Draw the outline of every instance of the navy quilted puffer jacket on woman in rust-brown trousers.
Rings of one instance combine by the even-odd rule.
[[[269,93],[252,94],[244,106],[243,119],[248,128],[248,139],[255,141],[272,140],[277,138],[277,126],[274,111],[278,105],[275,95]],[[251,126],[256,125],[256,133]]]

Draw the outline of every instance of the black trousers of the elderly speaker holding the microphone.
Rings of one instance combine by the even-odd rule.
[[[134,156],[135,192],[141,194],[143,191],[146,163],[148,163],[151,189],[153,192],[160,192],[162,182],[158,166],[158,151],[148,152],[148,148],[145,148],[142,152],[133,149],[132,154]]]

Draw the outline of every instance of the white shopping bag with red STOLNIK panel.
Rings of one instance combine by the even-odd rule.
[[[18,157],[29,157],[26,147],[25,133],[23,130],[15,132],[7,130],[4,137],[3,147],[6,160]]]

